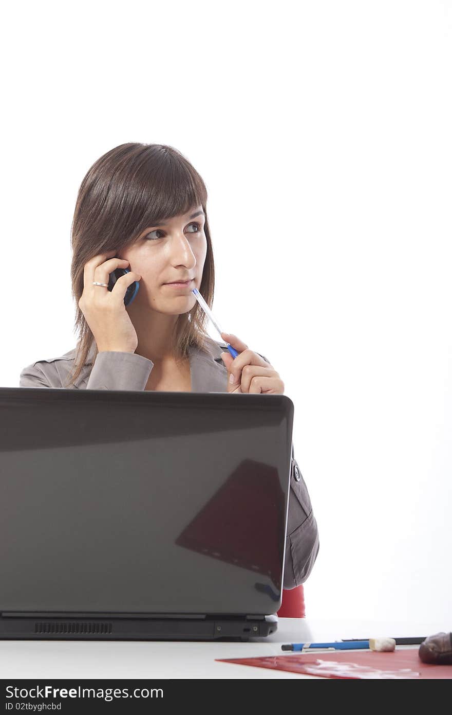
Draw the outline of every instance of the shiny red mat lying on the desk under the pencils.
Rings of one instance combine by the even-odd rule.
[[[353,679],[438,679],[452,678],[452,666],[423,663],[418,648],[377,651],[316,651],[315,654],[290,654],[262,658],[216,658],[222,663],[238,663],[258,668],[321,676]]]

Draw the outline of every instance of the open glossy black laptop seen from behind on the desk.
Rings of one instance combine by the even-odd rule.
[[[0,388],[0,638],[278,624],[286,395]]]

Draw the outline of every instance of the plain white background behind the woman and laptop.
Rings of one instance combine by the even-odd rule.
[[[3,20],[1,385],[75,347],[86,171],[171,144],[209,190],[214,314],[295,405],[321,541],[307,616],[449,631],[451,1],[44,1]]]

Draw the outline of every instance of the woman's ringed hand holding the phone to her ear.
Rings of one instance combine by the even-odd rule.
[[[127,287],[135,280],[140,280],[141,275],[132,271],[122,275],[116,280],[113,290],[93,285],[94,280],[108,283],[110,273],[116,268],[126,268],[129,265],[129,261],[122,258],[106,260],[106,257],[114,253],[114,250],[101,253],[85,264],[84,290],[79,300],[79,308],[91,328],[99,352],[135,352],[138,337],[126,311],[124,296]]]

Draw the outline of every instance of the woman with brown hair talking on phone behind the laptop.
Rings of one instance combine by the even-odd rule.
[[[100,157],[79,189],[71,230],[72,295],[80,340],[59,358],[22,370],[20,387],[283,394],[268,360],[235,335],[238,350],[206,332],[194,287],[211,307],[214,255],[207,190],[173,147],[121,144]],[[109,291],[109,274],[129,268]],[[171,282],[189,280],[183,287]],[[126,307],[134,281],[139,291]],[[229,378],[233,378],[233,382]],[[283,588],[306,581],[318,530],[298,463],[291,464]]]

